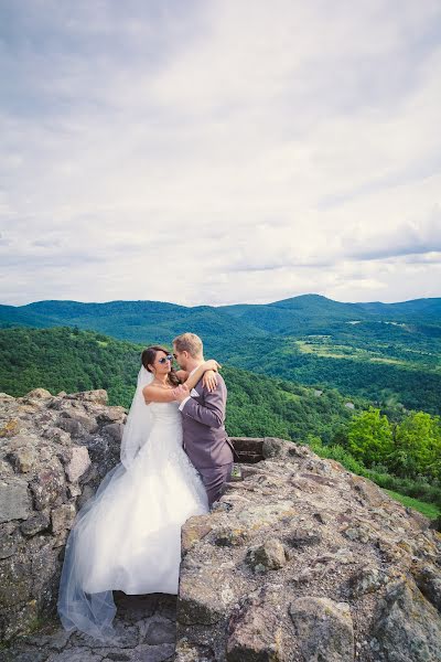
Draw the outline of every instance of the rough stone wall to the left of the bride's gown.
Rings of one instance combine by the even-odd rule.
[[[126,410],[105,391],[0,395],[0,639],[54,613],[79,505],[119,460]]]

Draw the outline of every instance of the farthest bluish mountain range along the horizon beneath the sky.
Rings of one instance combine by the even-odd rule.
[[[0,306],[0,327],[77,325],[123,340],[159,342],[192,330],[206,340],[245,340],[324,333],[351,321],[401,321],[441,327],[441,298],[401,303],[343,303],[320,295],[303,295],[265,305],[186,307],[160,301],[39,301]]]

